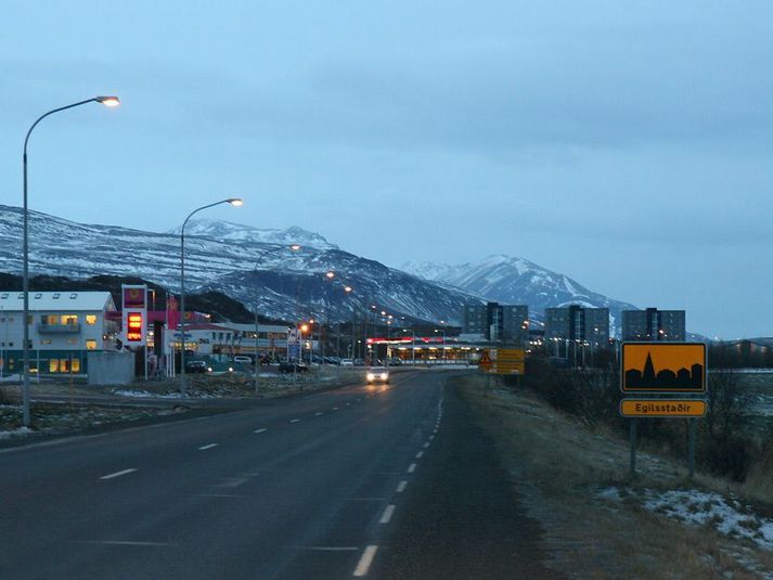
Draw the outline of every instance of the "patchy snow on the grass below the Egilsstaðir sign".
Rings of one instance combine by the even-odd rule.
[[[773,518],[757,516],[749,505],[733,497],[696,489],[645,489],[637,495],[633,490],[617,487],[596,493],[596,498],[610,502],[621,501],[622,495],[636,497],[648,512],[662,514],[690,526],[711,526],[720,533],[746,538],[773,552]]]

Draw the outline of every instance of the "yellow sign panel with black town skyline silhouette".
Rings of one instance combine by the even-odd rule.
[[[623,392],[705,392],[703,343],[623,343],[620,387]]]

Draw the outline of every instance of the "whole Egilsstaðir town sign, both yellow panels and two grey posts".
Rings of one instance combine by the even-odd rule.
[[[620,401],[620,415],[631,418],[631,476],[636,472],[636,421],[640,417],[686,417],[690,421],[687,466],[692,479],[695,474],[695,420],[706,415],[706,345],[623,343],[620,350],[620,390],[636,396]]]

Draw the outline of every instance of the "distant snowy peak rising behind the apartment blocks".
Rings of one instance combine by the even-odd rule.
[[[526,304],[540,319],[544,308],[580,305],[609,308],[613,326],[621,320],[620,310],[636,307],[585,288],[558,272],[553,272],[524,258],[492,255],[478,263],[458,266],[434,262],[405,262],[405,272],[456,287],[481,298],[502,304]]]

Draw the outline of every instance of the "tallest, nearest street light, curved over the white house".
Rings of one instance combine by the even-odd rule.
[[[101,103],[105,106],[108,107],[116,107],[120,104],[120,100],[117,96],[93,96],[91,99],[87,99],[86,101],[78,101],[77,103],[73,103],[70,105],[65,105],[61,106],[59,108],[52,108],[48,113],[40,115],[37,120],[33,124],[33,126],[29,128],[27,131],[27,136],[24,138],[24,155],[22,157],[23,166],[24,166],[24,209],[23,209],[23,217],[22,217],[22,229],[23,229],[23,234],[22,234],[22,261],[24,263],[23,270],[24,273],[22,275],[22,292],[24,294],[24,318],[23,318],[23,325],[24,325],[24,344],[22,345],[22,351],[23,351],[23,371],[22,371],[22,376],[23,376],[23,383],[22,383],[22,408],[23,408],[23,418],[22,423],[25,427],[29,426],[29,227],[28,227],[28,219],[29,219],[29,211],[27,209],[27,143],[29,142],[29,136],[33,133],[33,129],[35,129],[38,124],[43,120],[46,117],[49,115],[53,115],[54,113],[59,113],[61,111],[66,111],[68,108],[74,108],[76,106],[85,105],[87,103]],[[38,373],[40,372],[40,369],[38,369]]]

